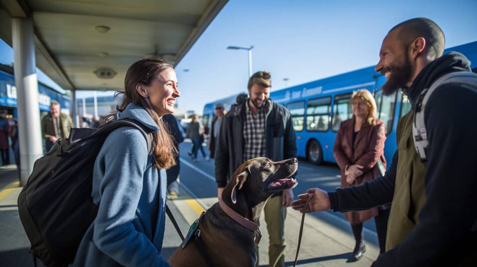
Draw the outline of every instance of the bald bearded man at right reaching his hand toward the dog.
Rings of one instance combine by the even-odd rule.
[[[375,68],[386,77],[381,90],[401,89],[411,103],[397,124],[391,166],[363,185],[311,188],[293,203],[303,212],[314,194],[307,212],[345,212],[392,202],[386,253],[372,267],[476,266],[477,124],[470,122],[477,114],[477,74],[463,54],[443,55],[444,47],[444,32],[428,18],[387,33]]]

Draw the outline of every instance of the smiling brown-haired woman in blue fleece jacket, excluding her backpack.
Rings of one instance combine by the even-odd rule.
[[[134,127],[112,131],[94,163],[91,197],[98,214],[79,245],[73,266],[169,266],[160,256],[165,226],[165,171],[175,165],[173,141],[162,116],[180,97],[172,65],[157,59],[133,63],[123,102],[105,122],[133,119],[152,133],[152,148]]]

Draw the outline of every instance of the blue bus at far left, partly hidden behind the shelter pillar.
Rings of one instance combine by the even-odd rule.
[[[6,109],[14,118],[17,118],[16,94],[17,92],[15,87],[15,77],[13,76],[13,68],[8,65],[0,64],[0,107]],[[59,102],[61,105],[61,111],[71,116],[70,97],[39,82],[38,104],[40,107],[40,113],[50,111],[50,103],[52,100]]]

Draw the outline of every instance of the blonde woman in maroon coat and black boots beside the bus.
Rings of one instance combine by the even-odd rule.
[[[341,187],[361,185],[381,176],[378,161],[386,168],[384,123],[376,117],[376,102],[366,89],[351,96],[353,117],[341,122],[333,147],[333,155],[341,169]],[[366,251],[363,241],[363,222],[374,217],[380,253],[385,251],[386,229],[389,217],[387,209],[372,208],[359,212],[344,213],[353,230],[356,245],[349,259],[358,261]]]

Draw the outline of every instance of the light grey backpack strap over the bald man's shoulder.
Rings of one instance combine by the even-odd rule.
[[[426,125],[424,123],[424,110],[432,93],[441,85],[448,83],[467,85],[466,88],[470,87],[469,89],[477,92],[477,74],[470,71],[448,73],[433,82],[428,89],[422,90],[417,98],[414,112],[414,123],[412,124],[412,138],[414,139],[414,146],[416,147],[417,154],[419,154],[421,161],[424,163],[427,160],[427,147],[429,146]]]

